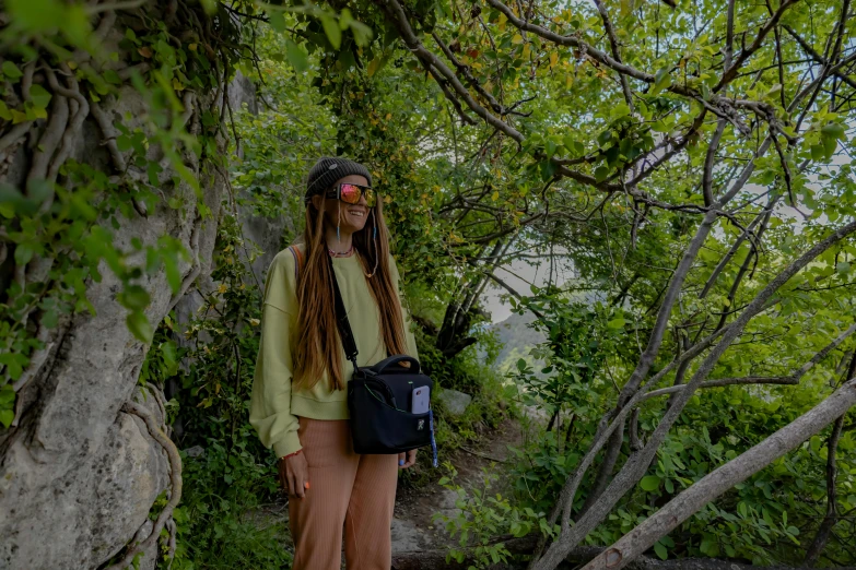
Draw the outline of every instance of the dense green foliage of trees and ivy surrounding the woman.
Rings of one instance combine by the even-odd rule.
[[[853,378],[848,1],[207,0],[173,2],[163,21],[137,8],[17,0],[3,14],[0,151],[69,109],[82,119],[61,136],[45,127],[32,171],[0,186],[0,423],[19,417],[50,331],[93,311],[87,283],[110,272],[152,347],[140,383],[169,392],[180,447],[204,449],[183,454],[165,566],[290,558],[281,530],[255,518],[277,490],[246,421],[260,284],[241,221],[286,218],[291,241],[320,154],[372,169],[422,359],[441,385],[477,395],[441,423],[441,443],[495,424],[509,387],[552,417],[517,451],[514,501],[462,498],[470,518],[447,521],[478,529],[462,543],[481,548],[477,566],[507,556],[493,534],[549,535],[536,568],[583,541],[617,543]],[[227,105],[237,71],[258,112]],[[104,118],[99,105],[129,93],[145,112]],[[66,150],[84,108],[108,166]],[[212,209],[202,189],[218,177],[231,188]],[[187,322],[150,322],[143,283],[165,272],[186,293],[178,268],[192,252],[169,235],[117,238],[159,207],[219,224],[212,281],[195,283],[204,302]],[[549,268],[547,283],[517,290],[501,273],[513,262]],[[490,286],[546,339],[505,385],[486,368],[500,353],[481,306]],[[854,425],[842,416],[754,465],[671,532],[648,533],[650,548],[853,563]],[[549,522],[535,524],[539,512]]]

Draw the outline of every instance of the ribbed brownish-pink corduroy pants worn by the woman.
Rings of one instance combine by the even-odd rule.
[[[350,421],[302,417],[306,496],[289,498],[293,570],[389,570],[398,455],[357,455]]]

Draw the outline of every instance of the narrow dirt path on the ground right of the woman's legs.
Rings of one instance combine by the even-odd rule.
[[[500,475],[500,479],[491,491],[506,495],[512,482],[502,474],[511,467],[511,464],[505,462],[509,461],[509,458],[513,460],[508,448],[519,447],[523,436],[520,425],[516,420],[507,419],[496,429],[488,431],[476,444],[466,446],[466,449],[449,458],[441,458],[441,463],[449,461],[455,465],[458,471],[456,483],[466,489],[481,486],[484,476],[482,468],[491,468],[494,464],[492,472]],[[454,515],[457,511],[457,499],[456,492],[436,483],[418,489],[399,489],[392,521],[394,555],[436,550],[455,544],[442,527],[442,523],[435,525],[432,518],[436,512]]]

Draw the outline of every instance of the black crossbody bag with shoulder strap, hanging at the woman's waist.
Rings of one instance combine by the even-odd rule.
[[[354,452],[394,454],[431,446],[436,467],[434,413],[431,408],[424,414],[410,413],[413,389],[427,387],[430,394],[433,394],[434,382],[420,371],[419,360],[412,356],[395,355],[362,368],[356,365],[356,342],[336,273],[332,276],[336,323],[344,354],[354,367],[353,377],[348,383],[348,411],[351,414]],[[400,363],[410,363],[410,368],[404,368]]]

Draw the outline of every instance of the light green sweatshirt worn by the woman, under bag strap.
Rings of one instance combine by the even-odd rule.
[[[302,246],[301,251],[305,251]],[[379,363],[387,356],[380,333],[380,313],[368,288],[363,266],[356,256],[333,258],[332,262],[360,352],[356,363],[359,366]],[[398,268],[391,257],[389,269],[396,293],[399,293]],[[349,418],[348,391],[331,391],[326,372],[309,390],[292,388],[291,337],[297,334],[298,313],[294,270],[294,256],[288,249],[280,251],[268,269],[261,312],[261,344],[256,359],[256,376],[249,404],[249,423],[258,431],[265,447],[272,447],[278,458],[301,449],[297,438],[298,416],[313,419]],[[418,357],[409,314],[403,307],[401,311],[408,354]],[[343,376],[350,381],[353,366],[345,359],[341,343],[340,349]]]

